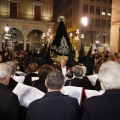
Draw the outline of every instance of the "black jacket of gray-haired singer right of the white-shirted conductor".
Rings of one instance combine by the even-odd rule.
[[[67,80],[65,82],[65,86],[76,86],[76,87],[84,87],[85,89],[91,89],[92,85],[86,77],[74,77],[72,80]]]

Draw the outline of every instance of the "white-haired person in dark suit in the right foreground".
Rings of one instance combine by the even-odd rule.
[[[105,92],[84,101],[82,120],[120,120],[120,64],[103,63],[98,79]]]

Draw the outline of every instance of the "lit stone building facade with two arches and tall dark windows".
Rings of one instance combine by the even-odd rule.
[[[11,39],[5,27],[15,28]],[[11,47],[12,40],[19,49],[40,50],[46,40],[42,34],[53,30],[53,0],[0,0],[0,50]]]

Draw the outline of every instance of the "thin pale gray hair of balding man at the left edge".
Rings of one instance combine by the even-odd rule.
[[[11,68],[6,63],[0,63],[0,81],[11,75]]]

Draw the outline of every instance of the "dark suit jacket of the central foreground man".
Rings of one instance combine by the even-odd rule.
[[[29,105],[26,120],[80,120],[80,106],[75,98],[48,92]]]

